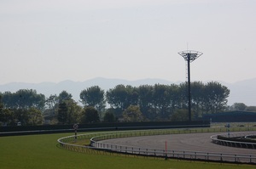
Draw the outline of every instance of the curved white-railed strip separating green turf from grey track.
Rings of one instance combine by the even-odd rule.
[[[254,128],[255,130],[255,128]],[[146,149],[141,147],[131,147],[117,144],[106,144],[100,141],[113,138],[128,138],[149,135],[166,135],[179,133],[197,133],[197,132],[226,132],[225,128],[191,128],[191,129],[165,129],[165,130],[142,130],[142,131],[124,131],[124,132],[96,132],[89,134],[79,134],[76,139],[75,136],[68,136],[59,138],[58,142],[64,149],[95,153],[95,150],[102,150],[103,152],[117,152],[126,155],[144,155],[175,159],[189,159],[195,161],[221,161],[221,162],[236,162],[236,163],[251,163],[256,164],[256,155],[242,155],[242,154],[226,154],[216,152],[201,152],[201,151],[186,151],[186,150],[166,150],[166,149]],[[90,146],[85,144],[78,144],[83,140],[90,139]]]

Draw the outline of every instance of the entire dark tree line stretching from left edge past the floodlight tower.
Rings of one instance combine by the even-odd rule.
[[[193,120],[201,115],[228,109],[228,87],[219,82],[192,82],[191,105]],[[4,125],[73,124],[114,121],[187,121],[188,84],[141,85],[119,84],[104,91],[88,87],[80,100],[71,93],[58,95],[20,89],[15,93],[0,93],[0,122]]]

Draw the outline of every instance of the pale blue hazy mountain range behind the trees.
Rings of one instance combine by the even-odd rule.
[[[181,82],[169,82],[162,79],[142,79],[137,81],[126,81],[122,79],[108,79],[97,77],[84,82],[62,81],[62,82],[41,82],[41,83],[25,83],[25,82],[11,82],[8,84],[0,85],[0,92],[5,91],[16,92],[20,89],[35,89],[38,93],[42,93],[45,97],[50,94],[59,94],[61,91],[66,90],[67,93],[72,93],[73,99],[79,101],[79,94],[87,87],[99,86],[105,91],[113,88],[116,85],[124,84],[138,87],[143,84],[179,84]],[[256,78],[249,79],[241,82],[227,83],[220,82],[222,85],[230,89],[229,105],[234,103],[244,103],[249,105],[256,105]]]

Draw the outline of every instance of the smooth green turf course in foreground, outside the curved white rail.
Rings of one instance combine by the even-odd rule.
[[[58,169],[58,168],[91,168],[91,169],[254,169],[250,165],[233,165],[195,161],[177,161],[160,158],[133,157],[125,155],[103,155],[102,153],[78,153],[61,149],[57,139],[72,133],[42,134],[0,138],[1,169]]]

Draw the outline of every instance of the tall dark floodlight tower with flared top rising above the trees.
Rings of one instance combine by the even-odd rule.
[[[193,50],[186,50],[177,53],[183,57],[187,61],[188,64],[188,99],[189,99],[189,121],[191,121],[191,91],[190,91],[190,62],[193,62],[195,59],[202,55],[201,52],[193,51]]]

